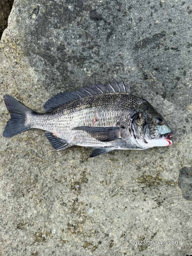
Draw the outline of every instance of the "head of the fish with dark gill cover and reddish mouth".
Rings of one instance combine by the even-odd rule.
[[[165,119],[149,102],[140,105],[131,125],[136,141],[142,148],[172,145],[170,137],[174,136]]]

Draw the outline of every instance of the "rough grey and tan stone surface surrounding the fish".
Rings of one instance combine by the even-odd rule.
[[[14,1],[0,46],[1,256],[192,253],[191,38],[189,0]],[[43,112],[113,77],[165,116],[172,146],[89,159],[40,130],[2,136],[4,94]]]

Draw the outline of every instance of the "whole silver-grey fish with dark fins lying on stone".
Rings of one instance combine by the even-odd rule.
[[[46,113],[29,109],[10,95],[4,95],[4,101],[11,116],[4,137],[41,129],[57,151],[78,145],[93,148],[89,157],[96,157],[113,150],[173,144],[169,138],[174,133],[163,116],[147,100],[132,95],[123,80],[60,93],[45,103]]]

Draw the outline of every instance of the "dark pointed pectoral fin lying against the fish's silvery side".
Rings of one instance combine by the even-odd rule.
[[[102,142],[108,142],[108,141],[121,138],[120,132],[122,131],[122,129],[123,127],[92,127],[92,126],[78,126],[73,128],[73,130],[86,131],[93,138]]]

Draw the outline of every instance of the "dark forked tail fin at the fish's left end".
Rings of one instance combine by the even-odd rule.
[[[4,95],[4,101],[11,119],[7,122],[3,136],[12,137],[31,129],[27,115],[34,112],[9,95]]]

